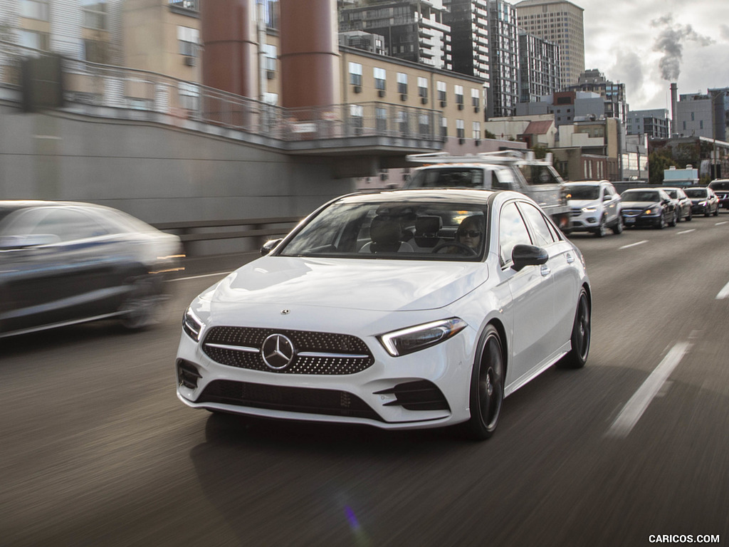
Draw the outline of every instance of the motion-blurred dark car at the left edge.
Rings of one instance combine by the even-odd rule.
[[[90,203],[0,201],[0,338],[117,317],[149,325],[177,236]]]

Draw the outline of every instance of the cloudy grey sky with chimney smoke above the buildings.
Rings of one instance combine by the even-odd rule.
[[[729,87],[729,0],[570,0],[585,9],[585,69],[625,84],[631,110]]]

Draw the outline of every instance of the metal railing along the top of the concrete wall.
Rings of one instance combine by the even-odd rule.
[[[28,57],[49,55],[0,40],[0,86],[22,90],[21,66]],[[78,111],[124,109],[125,117],[168,115],[278,141],[313,141],[389,136],[443,141],[440,112],[381,102],[284,109],[156,72],[61,56],[63,98]],[[136,116],[133,114],[136,113]]]

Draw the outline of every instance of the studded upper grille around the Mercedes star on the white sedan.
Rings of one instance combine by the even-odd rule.
[[[286,336],[295,348],[292,361],[283,368],[270,368],[262,357],[261,346],[272,334]],[[222,365],[282,374],[354,374],[375,362],[367,344],[356,336],[305,330],[212,327],[203,352]]]

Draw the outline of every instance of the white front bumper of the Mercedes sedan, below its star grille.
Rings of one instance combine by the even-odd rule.
[[[251,370],[212,360],[183,333],[176,360],[177,396],[192,408],[382,429],[441,427],[469,419],[475,331],[401,357],[375,335],[362,336],[373,364],[356,373]]]

